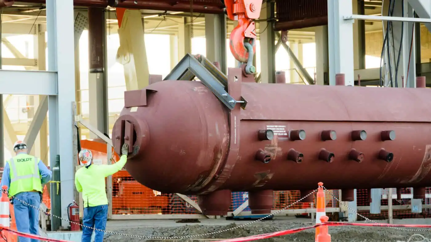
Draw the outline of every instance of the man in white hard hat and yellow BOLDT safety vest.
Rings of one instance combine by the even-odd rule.
[[[37,157],[27,154],[27,145],[16,141],[16,156],[4,167],[0,187],[6,185],[15,211],[16,229],[19,232],[39,234],[39,206],[42,187],[51,180],[52,172]],[[33,207],[31,207],[31,206]],[[37,242],[37,239],[19,237],[20,242]]]

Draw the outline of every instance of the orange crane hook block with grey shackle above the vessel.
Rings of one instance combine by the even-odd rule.
[[[246,62],[246,71],[254,73],[253,55],[256,52],[256,24],[262,9],[262,0],[225,0],[228,18],[238,21],[231,33],[230,48],[232,55],[240,62]]]

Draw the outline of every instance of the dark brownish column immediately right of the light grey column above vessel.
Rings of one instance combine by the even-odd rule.
[[[353,14],[365,14],[363,0],[352,0]],[[353,66],[355,70],[365,69],[365,21],[353,23]]]

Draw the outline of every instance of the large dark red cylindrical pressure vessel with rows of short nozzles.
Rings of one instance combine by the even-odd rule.
[[[163,193],[431,185],[431,90],[242,83],[239,152],[229,109],[200,82],[162,81],[126,92],[113,129],[128,172]],[[237,104],[239,105],[239,104]]]

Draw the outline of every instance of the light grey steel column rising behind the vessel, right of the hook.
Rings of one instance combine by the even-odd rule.
[[[344,73],[346,86],[353,86],[353,21],[352,1],[328,1],[329,85],[335,85],[335,74]]]

